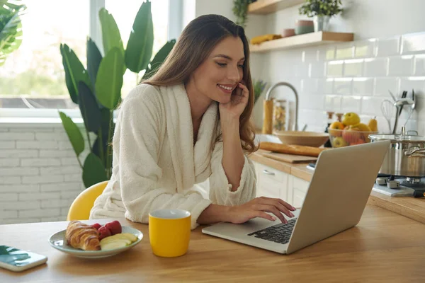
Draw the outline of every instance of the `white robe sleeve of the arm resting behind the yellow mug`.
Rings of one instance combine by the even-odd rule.
[[[159,103],[159,93],[152,86],[143,86],[143,99],[129,93],[120,109],[113,140],[119,150],[119,176],[125,217],[135,222],[148,223],[149,212],[155,209],[185,209],[191,212],[191,229],[198,216],[210,205],[199,192],[177,193],[176,189],[159,187],[162,168],[158,166],[166,117]],[[149,91],[149,93],[146,93]],[[145,92],[145,93],[144,93]],[[170,161],[171,162],[171,161]]]

